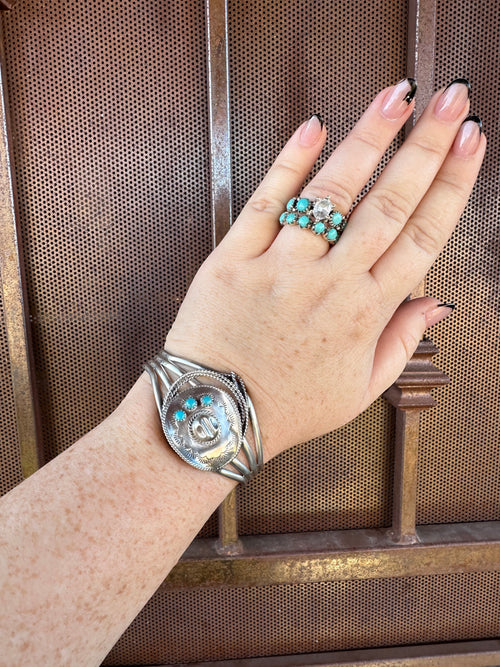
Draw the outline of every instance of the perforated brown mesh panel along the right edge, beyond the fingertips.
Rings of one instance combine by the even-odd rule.
[[[462,221],[432,268],[427,292],[456,301],[432,332],[437,364],[452,385],[421,428],[418,523],[500,519],[500,113],[496,2],[437,3],[436,86],[457,75],[472,82],[488,151]]]

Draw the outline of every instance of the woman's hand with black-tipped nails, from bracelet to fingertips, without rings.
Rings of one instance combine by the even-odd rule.
[[[347,213],[409,118],[414,85],[382,91],[302,192]],[[356,417],[390,386],[426,327],[449,314],[404,302],[452,233],[484,155],[469,86],[432,98],[338,241],[280,227],[324,145],[317,116],[289,140],[196,275],[166,348],[245,380],[266,457]],[[402,304],[402,305],[401,305]]]

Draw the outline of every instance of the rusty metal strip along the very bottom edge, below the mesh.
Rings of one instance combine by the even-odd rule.
[[[198,667],[498,667],[500,640],[217,660],[197,664]],[[176,667],[184,666],[177,664]]]

